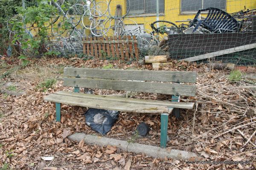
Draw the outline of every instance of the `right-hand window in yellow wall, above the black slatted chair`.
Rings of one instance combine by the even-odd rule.
[[[181,12],[215,7],[226,9],[226,0],[181,0]]]

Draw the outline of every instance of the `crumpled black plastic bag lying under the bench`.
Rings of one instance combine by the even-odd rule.
[[[90,126],[92,130],[105,135],[116,122],[119,111],[90,108],[84,115],[85,123]]]

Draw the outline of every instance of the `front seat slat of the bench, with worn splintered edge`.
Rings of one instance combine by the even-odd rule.
[[[49,102],[64,103],[67,105],[76,105],[81,107],[107,109],[107,110],[123,111],[123,112],[152,113],[152,114],[172,112],[172,108],[168,108],[167,106],[122,103],[122,102],[98,100],[98,99],[83,99],[80,97],[63,96],[60,94],[50,94],[49,96],[45,97],[44,100]]]

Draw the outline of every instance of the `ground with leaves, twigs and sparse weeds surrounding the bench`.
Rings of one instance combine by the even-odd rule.
[[[184,160],[154,159],[127,153],[119,148],[73,143],[67,136],[82,132],[99,135],[85,124],[88,108],[62,105],[61,122],[55,121],[55,104],[44,96],[57,91],[73,91],[61,81],[64,67],[145,69],[137,62],[64,58],[30,59],[20,66],[15,58],[0,60],[0,90],[25,92],[21,96],[0,94],[0,170],[252,170],[256,169],[256,88],[246,74],[238,82],[228,81],[230,71],[217,71],[204,64],[172,61],[169,71],[197,70],[197,94],[182,97],[195,102],[194,109],[183,109],[181,118],[169,117],[168,149],[192,151],[207,161],[249,161],[247,164],[188,164]],[[56,77],[59,77],[56,79]],[[44,82],[52,80],[52,87]],[[254,86],[254,87],[253,87]],[[93,89],[94,94],[124,91]],[[81,89],[83,93],[83,89]],[[168,101],[169,95],[137,93],[133,98]],[[135,134],[137,125],[150,126],[147,136]],[[105,137],[160,145],[160,115],[122,112]],[[44,161],[42,156],[53,156]]]

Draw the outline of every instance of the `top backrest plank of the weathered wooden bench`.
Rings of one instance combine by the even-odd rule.
[[[99,79],[123,79],[145,80],[157,82],[196,82],[195,71],[146,71],[146,70],[113,70],[95,68],[64,68],[64,76],[99,78]]]

